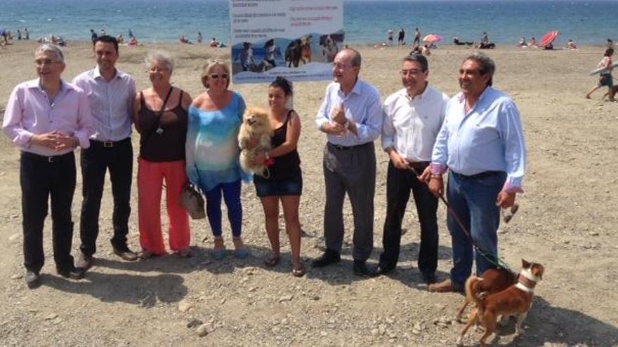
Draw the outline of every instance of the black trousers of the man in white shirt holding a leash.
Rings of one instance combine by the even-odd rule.
[[[421,174],[428,164],[416,168]],[[422,273],[434,273],[438,268],[438,198],[429,191],[427,184],[416,179],[412,170],[395,168],[388,162],[386,177],[386,221],[382,236],[383,252],[380,267],[391,270],[397,266],[401,245],[401,223],[410,197],[414,195],[416,212],[421,222],[421,247],[418,266]]]

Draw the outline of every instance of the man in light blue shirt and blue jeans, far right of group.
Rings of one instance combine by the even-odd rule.
[[[440,196],[442,174],[449,169],[447,199],[478,247],[474,252],[470,238],[449,215],[453,268],[449,280],[430,285],[433,292],[463,290],[474,256],[479,275],[494,267],[500,208],[513,206],[515,194],[522,192],[526,149],[520,114],[511,97],[492,88],[494,71],[493,60],[482,53],[463,60],[461,93],[447,104],[430,169],[423,172],[430,191]]]

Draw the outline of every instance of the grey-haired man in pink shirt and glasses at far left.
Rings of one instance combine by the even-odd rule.
[[[65,83],[63,51],[44,44],[34,54],[39,79],[20,83],[6,105],[2,129],[21,150],[20,185],[24,233],[25,281],[39,286],[44,264],[43,226],[51,196],[53,258],[58,274],[80,279],[71,256],[75,191],[75,158],[79,146],[88,148],[91,112],[86,94]]]

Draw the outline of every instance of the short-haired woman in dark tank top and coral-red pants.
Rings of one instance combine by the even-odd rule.
[[[161,231],[163,186],[169,217],[169,247],[180,257],[189,257],[189,217],[180,206],[180,192],[188,181],[185,174],[185,139],[191,97],[183,90],[171,86],[174,64],[169,53],[150,53],[146,64],[152,88],[138,93],[133,102],[133,123],[140,133],[140,258],[166,253]]]

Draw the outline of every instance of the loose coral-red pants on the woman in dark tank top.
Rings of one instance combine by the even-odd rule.
[[[169,218],[169,247],[173,251],[189,247],[191,232],[189,216],[180,206],[180,192],[187,182],[185,161],[155,163],[138,160],[138,216],[140,245],[152,254],[165,254],[161,231],[161,193],[166,185],[167,217]]]

